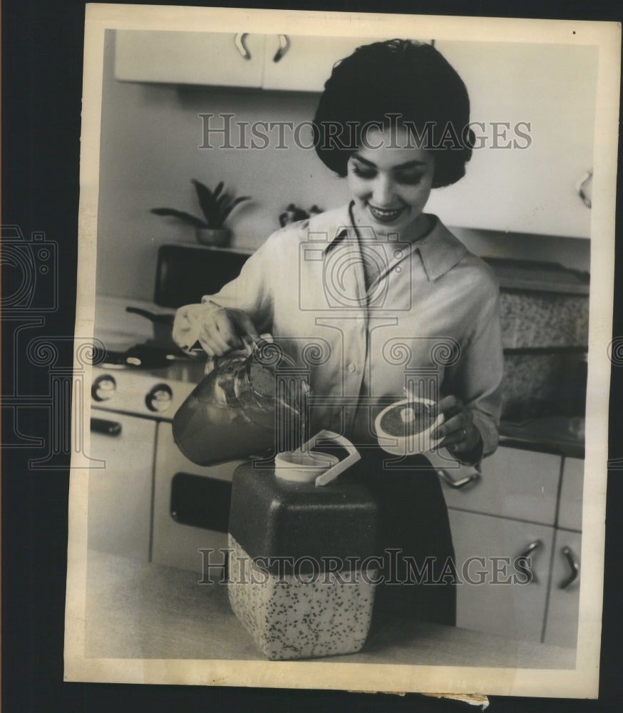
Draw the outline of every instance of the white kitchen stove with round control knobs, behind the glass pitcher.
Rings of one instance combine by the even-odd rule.
[[[105,468],[89,475],[88,547],[202,572],[205,552],[227,547],[242,461],[206,468],[177,448],[171,421],[205,374],[205,358],[159,342],[127,304],[98,301],[95,337],[105,354],[92,370],[91,454]]]

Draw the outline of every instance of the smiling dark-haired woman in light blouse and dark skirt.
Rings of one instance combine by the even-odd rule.
[[[358,48],[334,67],[314,118],[316,153],[346,178],[351,201],[274,233],[240,277],[180,308],[174,325],[181,347],[198,340],[210,356],[270,332],[306,364],[312,432],[339,431],[358,446],[358,476],[379,500],[391,552],[375,612],[399,607],[449,624],[453,546],[438,476],[423,456],[388,463],[374,419],[424,389],[445,416],[436,436],[457,460],[478,463],[497,445],[498,286],[423,212],[431,189],[464,175],[468,122],[463,81],[435,48]]]

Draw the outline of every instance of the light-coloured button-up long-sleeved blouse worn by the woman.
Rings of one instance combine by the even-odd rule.
[[[349,205],[278,230],[214,303],[244,309],[306,370],[312,431],[376,443],[374,419],[406,393],[454,394],[495,450],[503,352],[490,267],[430,216],[417,242],[377,240]]]

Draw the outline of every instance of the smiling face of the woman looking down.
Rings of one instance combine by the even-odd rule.
[[[371,128],[349,158],[348,185],[360,225],[377,234],[399,232],[422,215],[431,194],[435,159],[408,145],[406,130]]]

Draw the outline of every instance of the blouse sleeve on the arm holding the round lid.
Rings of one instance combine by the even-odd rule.
[[[498,447],[502,410],[504,358],[500,327],[500,292],[494,278],[478,301],[468,332],[461,344],[460,358],[446,371],[444,390],[455,394],[472,411],[474,424],[483,438],[483,457]]]

